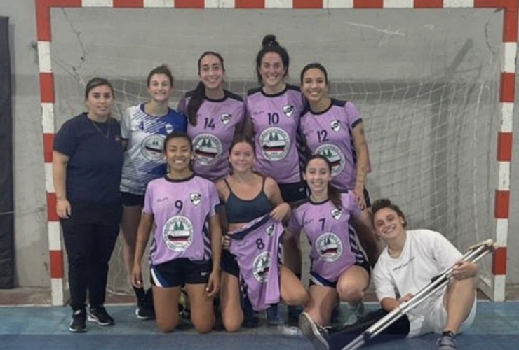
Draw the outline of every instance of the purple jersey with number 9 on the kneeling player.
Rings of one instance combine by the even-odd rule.
[[[187,179],[167,176],[148,184],[142,211],[154,216],[151,263],[176,258],[211,258],[209,218],[217,214],[220,199],[215,184],[193,174]]]

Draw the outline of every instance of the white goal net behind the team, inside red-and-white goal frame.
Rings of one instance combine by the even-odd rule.
[[[221,52],[227,88],[243,95],[258,85],[262,37],[276,34],[290,54],[290,83],[299,84],[305,64],[321,62],[332,97],[360,109],[372,200],[391,198],[410,228],[442,232],[461,251],[494,238],[501,13],[53,8],[51,15],[57,127],[84,110],[89,78],[112,81],[120,118],[127,106],[147,100],[147,73],[163,63],[175,76],[175,107],[196,85],[205,50]],[[306,247],[304,272],[307,253]],[[480,271],[490,280],[489,259]],[[132,293],[120,242],[109,290]]]

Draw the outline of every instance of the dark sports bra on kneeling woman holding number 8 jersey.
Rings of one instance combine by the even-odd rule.
[[[229,188],[229,197],[225,203],[225,212],[228,223],[248,223],[270,211],[269,198],[265,194],[265,178],[263,178],[262,190],[252,200],[242,200],[231,190],[227,180],[224,180]]]

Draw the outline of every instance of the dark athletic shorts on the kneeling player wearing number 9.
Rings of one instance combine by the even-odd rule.
[[[184,284],[205,284],[213,270],[211,260],[191,261],[178,258],[150,267],[151,284],[157,287],[170,288]]]

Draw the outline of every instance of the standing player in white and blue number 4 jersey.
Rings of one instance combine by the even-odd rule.
[[[168,106],[173,93],[173,76],[168,66],[162,65],[151,70],[147,78],[149,102],[126,109],[121,120],[121,137],[126,144],[121,197],[123,200],[123,255],[128,276],[135,255],[135,237],[139,225],[144,190],[149,181],[166,174],[164,139],[173,130],[186,131],[187,119]],[[134,288],[135,289],[135,288]],[[135,289],[137,295],[137,318],[154,318],[151,289],[144,295],[144,289]]]

